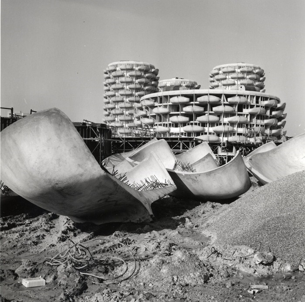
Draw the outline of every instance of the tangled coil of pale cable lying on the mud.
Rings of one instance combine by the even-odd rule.
[[[92,283],[95,284],[111,284],[111,283],[119,283],[128,278],[131,278],[135,274],[136,271],[136,260],[134,255],[131,253],[130,249],[122,243],[122,242],[115,242],[116,245],[123,246],[128,253],[130,254],[131,258],[123,259],[117,256],[104,256],[96,259],[92,256],[90,250],[84,246],[84,244],[93,242],[95,240],[104,240],[108,242],[112,242],[107,238],[95,238],[91,239],[82,243],[74,243],[71,239],[68,239],[66,245],[63,245],[59,249],[59,253],[57,253],[52,258],[47,258],[45,263],[49,265],[72,265],[81,275],[86,275],[90,277],[95,277],[98,279],[103,280],[103,282],[94,282],[91,280]],[[113,242],[114,243],[114,242]],[[63,249],[66,247],[66,249]],[[128,264],[127,261],[133,261],[133,269],[127,274],[128,271]],[[116,276],[109,277],[110,271],[114,271],[116,267],[123,265],[123,269],[120,273]],[[95,273],[97,271],[97,273]]]

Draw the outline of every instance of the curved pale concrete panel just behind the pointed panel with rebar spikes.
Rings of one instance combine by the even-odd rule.
[[[175,155],[164,139],[157,140],[151,144],[148,144],[147,146],[145,145],[142,149],[136,151],[128,158],[136,162],[142,162],[152,152],[158,156],[165,168],[174,168],[176,161]]]

